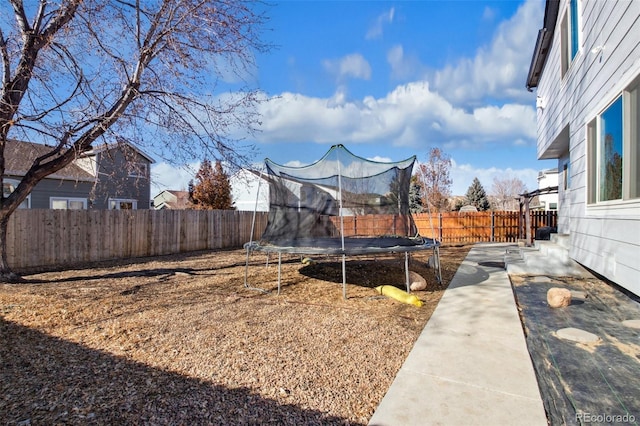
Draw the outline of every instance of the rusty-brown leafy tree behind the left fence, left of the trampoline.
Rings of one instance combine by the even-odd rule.
[[[231,181],[219,160],[213,167],[206,158],[202,161],[193,189],[190,188],[190,198],[196,209],[235,210],[231,197]]]

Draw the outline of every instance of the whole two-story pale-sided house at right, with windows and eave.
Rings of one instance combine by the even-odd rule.
[[[527,77],[570,256],[640,295],[640,1],[547,0]]]

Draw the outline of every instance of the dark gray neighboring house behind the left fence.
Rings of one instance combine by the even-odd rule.
[[[11,193],[33,163],[51,150],[7,141],[4,192]],[[40,181],[22,203],[31,209],[148,209],[153,159],[135,147],[102,145]]]

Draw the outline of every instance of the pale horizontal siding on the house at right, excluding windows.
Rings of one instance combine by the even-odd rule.
[[[561,2],[538,84],[545,101],[538,110],[538,157],[558,158],[559,171],[569,157],[570,188],[559,188],[558,231],[571,234],[571,257],[640,294],[640,200],[588,206],[586,172],[587,123],[640,75],[640,1],[580,1],[580,51],[563,78],[560,22],[568,3]],[[604,50],[592,53],[597,46]],[[568,144],[558,140],[567,126]]]

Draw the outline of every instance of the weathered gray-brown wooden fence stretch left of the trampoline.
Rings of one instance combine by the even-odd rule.
[[[7,255],[15,270],[108,259],[237,248],[249,241],[253,212],[233,210],[17,210]],[[266,213],[256,214],[254,239]]]

